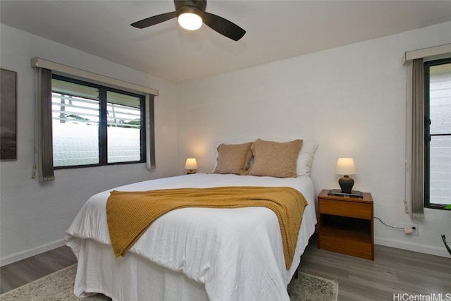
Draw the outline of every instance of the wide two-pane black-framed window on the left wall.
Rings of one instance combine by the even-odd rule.
[[[52,75],[54,167],[145,161],[144,96]]]

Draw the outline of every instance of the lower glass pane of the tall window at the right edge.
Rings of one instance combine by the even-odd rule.
[[[451,195],[451,136],[432,136],[430,142],[430,200],[431,204],[450,204]]]

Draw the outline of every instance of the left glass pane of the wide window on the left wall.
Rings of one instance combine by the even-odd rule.
[[[54,166],[99,164],[99,91],[52,80]]]

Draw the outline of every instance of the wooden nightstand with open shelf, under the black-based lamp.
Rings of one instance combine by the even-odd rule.
[[[318,195],[318,247],[374,260],[373,198]]]

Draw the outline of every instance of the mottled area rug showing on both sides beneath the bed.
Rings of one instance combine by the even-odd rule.
[[[20,288],[0,295],[1,301],[106,301],[104,295],[78,298],[73,295],[73,283],[77,265],[56,271]],[[338,282],[299,272],[299,278],[288,285],[291,301],[336,301]]]

